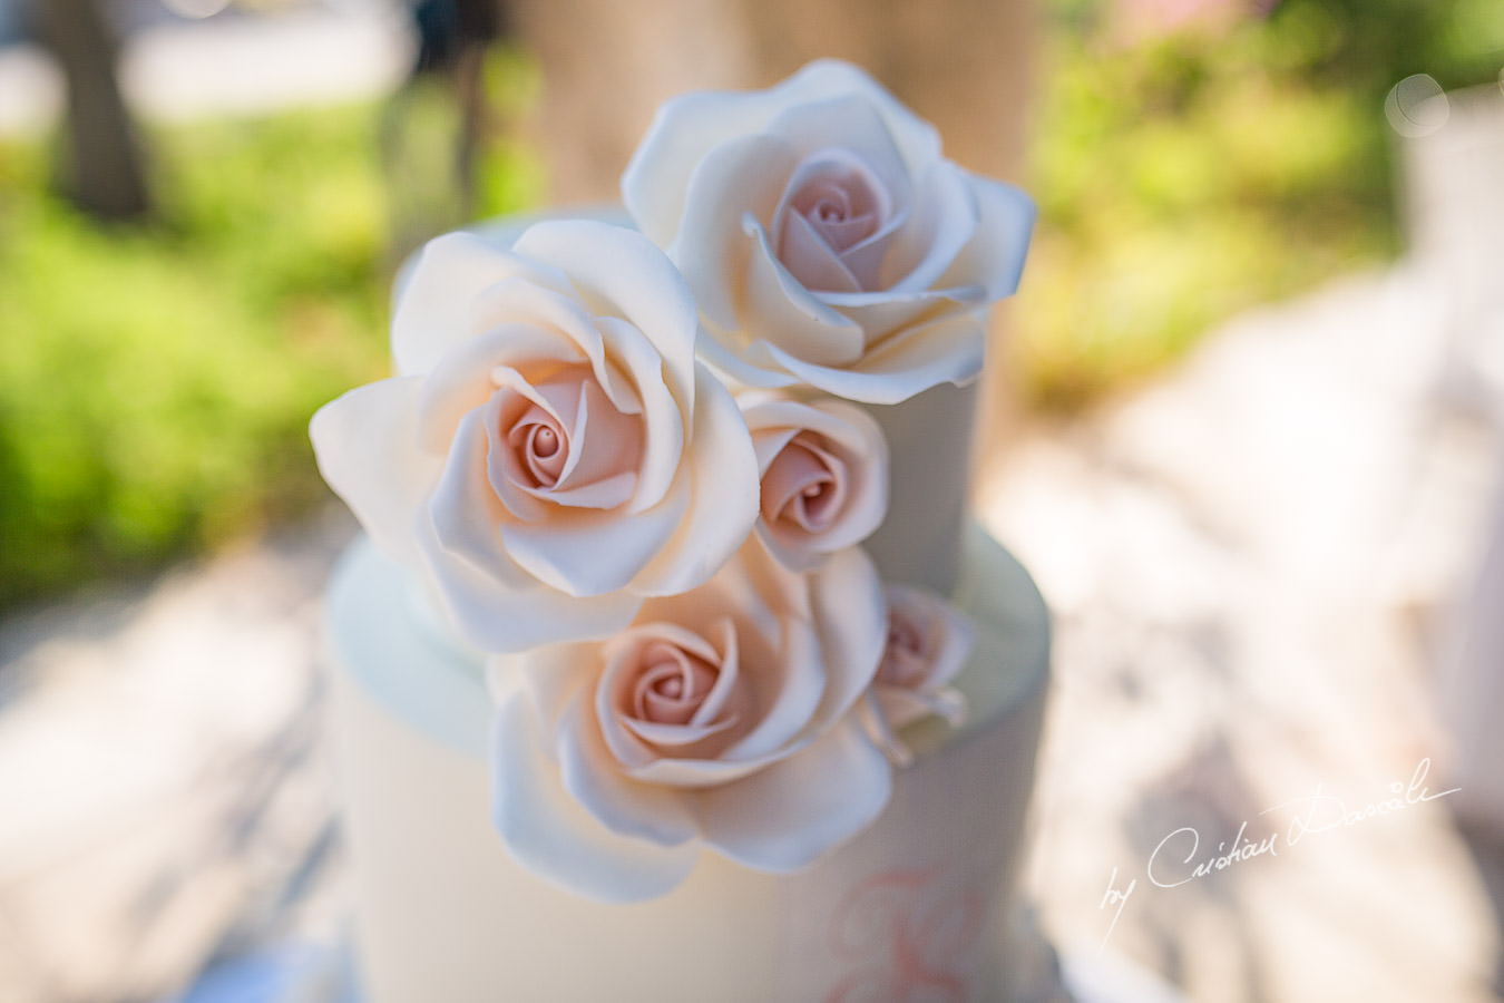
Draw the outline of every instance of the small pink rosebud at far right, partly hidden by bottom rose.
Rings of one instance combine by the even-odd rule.
[[[913,755],[896,731],[929,716],[958,726],[966,717],[966,698],[951,686],[972,654],[975,632],[970,621],[934,592],[911,585],[889,585],[887,645],[863,716],[869,734],[898,765]]]

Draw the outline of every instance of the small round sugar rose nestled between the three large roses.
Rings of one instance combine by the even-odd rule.
[[[887,514],[887,441],[866,412],[766,391],[737,403],[763,477],[757,531],[785,567],[808,571],[872,535]]]

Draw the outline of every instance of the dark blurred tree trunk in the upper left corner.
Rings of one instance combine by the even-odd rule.
[[[119,44],[98,0],[33,0],[32,18],[68,81],[63,189],[104,220],[146,217],[141,146],[116,80]]]

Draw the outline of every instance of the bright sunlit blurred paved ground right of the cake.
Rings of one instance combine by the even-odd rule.
[[[990,486],[1056,615],[1029,874],[1068,955],[1196,1000],[1492,998],[1460,795],[1290,841],[1427,759],[1451,786],[1435,675],[1504,439],[1441,392],[1433,292],[1396,271],[1247,316]],[[1242,826],[1274,853],[1193,878]]]

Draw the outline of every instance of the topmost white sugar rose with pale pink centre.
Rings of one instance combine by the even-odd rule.
[[[830,60],[669,101],[621,192],[695,290],[711,365],[871,403],[978,374],[982,308],[1017,289],[1033,226],[1027,195]]]

